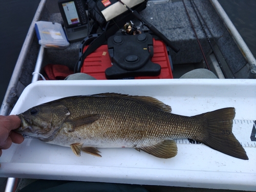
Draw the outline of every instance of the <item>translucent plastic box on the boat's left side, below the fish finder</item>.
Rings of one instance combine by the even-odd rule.
[[[35,23],[39,44],[45,48],[65,49],[69,46],[66,34],[58,23],[39,21]]]

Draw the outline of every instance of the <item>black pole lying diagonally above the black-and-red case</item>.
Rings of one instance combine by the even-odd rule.
[[[175,48],[172,45],[172,42],[170,42],[169,39],[167,39],[160,31],[157,30],[157,28],[155,28],[152,24],[148,23],[146,21],[146,19],[144,19],[136,10],[132,10],[131,8],[127,7],[121,0],[118,0],[124,7],[126,7],[129,11],[131,11],[133,13],[133,15],[139,19],[141,22],[143,22],[148,29],[150,29],[154,34],[156,34],[159,38],[161,38],[165,44],[167,44],[167,46],[169,46],[170,48],[172,48],[172,50],[174,50],[176,53],[178,53],[180,51],[179,48]]]

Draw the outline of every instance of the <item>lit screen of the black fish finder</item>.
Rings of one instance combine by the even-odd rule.
[[[71,1],[67,3],[62,3],[62,7],[66,14],[69,25],[80,23],[75,7],[75,2]]]

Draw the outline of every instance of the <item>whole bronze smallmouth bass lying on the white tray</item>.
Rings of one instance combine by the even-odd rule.
[[[132,147],[159,158],[177,154],[173,139],[194,139],[224,154],[247,160],[232,134],[234,108],[196,116],[170,113],[163,102],[147,96],[103,93],[72,96],[34,106],[18,115],[17,133],[47,143],[100,156],[97,148]],[[229,134],[223,134],[223,130]]]

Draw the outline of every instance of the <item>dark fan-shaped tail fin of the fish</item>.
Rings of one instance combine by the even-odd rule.
[[[235,114],[234,108],[224,108],[194,116],[205,119],[208,124],[208,136],[198,141],[224,154],[248,160],[244,148],[232,133]]]

